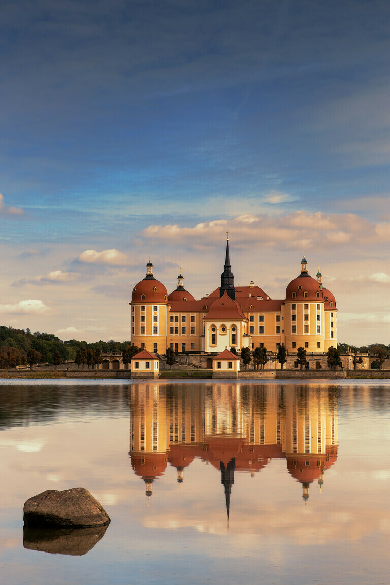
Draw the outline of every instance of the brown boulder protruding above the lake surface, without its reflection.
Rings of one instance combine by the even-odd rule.
[[[107,512],[84,487],[46,490],[25,502],[23,520],[27,526],[102,526]]]

